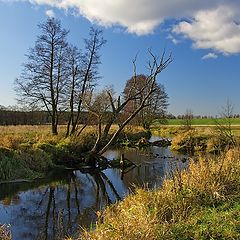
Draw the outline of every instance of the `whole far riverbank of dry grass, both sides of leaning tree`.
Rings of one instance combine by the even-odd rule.
[[[80,136],[66,138],[65,128],[60,126],[59,134],[52,136],[49,126],[1,126],[0,182],[42,178],[55,168],[85,166],[86,153],[97,138],[96,129],[89,126]],[[166,139],[172,138],[171,150],[183,154],[219,153],[233,145],[229,139],[209,127],[186,130],[180,126],[159,125],[152,128],[152,133]],[[146,139],[149,136],[149,132],[143,128],[129,126],[115,142],[115,146],[148,146]],[[234,138],[237,140],[239,137],[235,135]]]

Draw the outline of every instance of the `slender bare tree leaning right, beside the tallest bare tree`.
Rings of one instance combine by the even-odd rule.
[[[102,34],[102,30],[91,28],[89,38],[85,39],[85,51],[83,55],[79,58],[78,54],[75,54],[75,61],[72,59],[73,61],[71,62],[72,68],[75,69],[75,71],[73,70],[71,74],[71,92],[73,95],[70,99],[70,106],[72,113],[70,114],[67,131],[67,133],[70,132],[71,135],[77,130],[85,95],[87,92],[93,90],[96,80],[99,78],[98,66],[101,63],[100,50],[106,43]],[[79,65],[74,66],[77,62],[79,62]],[[73,114],[73,110],[76,111],[76,115]]]

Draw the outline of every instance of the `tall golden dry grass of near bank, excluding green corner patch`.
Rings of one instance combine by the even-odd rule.
[[[239,199],[239,159],[240,151],[235,149],[218,159],[200,158],[197,163],[191,160],[188,170],[177,171],[161,189],[138,189],[136,194],[107,208],[99,217],[96,230],[85,231],[80,239],[182,239],[173,231],[179,222],[187,222],[204,208],[234,201],[236,196]],[[236,224],[240,226],[240,220]],[[222,238],[209,234],[212,238],[183,239],[237,239],[228,238],[227,231]],[[240,237],[240,232],[231,234]]]

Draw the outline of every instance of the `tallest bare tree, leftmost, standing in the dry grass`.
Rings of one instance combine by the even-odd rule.
[[[67,74],[68,31],[54,18],[48,18],[39,25],[39,29],[41,35],[27,54],[22,74],[15,81],[15,90],[20,102],[47,110],[51,117],[52,134],[56,135]]]

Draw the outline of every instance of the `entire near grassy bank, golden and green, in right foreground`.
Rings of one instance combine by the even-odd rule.
[[[79,239],[240,239],[239,153],[199,158],[161,189],[137,190]]]

